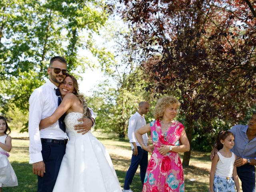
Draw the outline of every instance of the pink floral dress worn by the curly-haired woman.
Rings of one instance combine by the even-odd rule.
[[[150,123],[154,151],[148,162],[142,192],[184,192],[183,168],[176,152],[160,154],[161,145],[179,145],[184,125],[175,121],[166,132],[166,141],[159,120]]]

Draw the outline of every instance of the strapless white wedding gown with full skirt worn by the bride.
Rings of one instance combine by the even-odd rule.
[[[74,130],[82,114],[68,113],[64,119],[69,141],[53,192],[121,192],[110,156],[92,132]]]

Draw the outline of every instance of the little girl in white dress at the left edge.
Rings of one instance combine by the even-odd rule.
[[[10,134],[10,127],[6,118],[0,116],[0,192],[2,192],[2,187],[18,185],[16,174],[8,160],[8,152],[12,149],[12,138],[7,132]]]

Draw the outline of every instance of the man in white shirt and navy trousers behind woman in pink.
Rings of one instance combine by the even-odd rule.
[[[132,152],[131,165],[126,173],[126,177],[124,180],[123,192],[132,192],[132,190],[130,189],[130,184],[132,183],[132,179],[139,165],[140,165],[140,179],[141,179],[142,185],[144,183],[144,178],[145,178],[146,170],[148,166],[148,152],[141,148],[134,133],[136,132],[136,130],[146,125],[146,120],[144,118],[144,115],[148,113],[148,108],[149,108],[148,102],[140,102],[138,112],[133,114],[129,119],[128,138],[130,140],[130,144],[132,146],[133,152]],[[148,145],[148,135],[145,133],[144,135],[142,135],[142,138],[143,138],[144,144]]]

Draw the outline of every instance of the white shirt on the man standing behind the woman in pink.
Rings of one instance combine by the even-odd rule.
[[[138,130],[139,128],[141,128],[145,125],[146,125],[146,120],[144,118],[144,115],[141,116],[138,112],[136,112],[135,114],[133,114],[130,117],[129,125],[128,125],[128,138],[129,138],[129,142],[132,146],[132,149],[134,148],[134,146],[132,144],[134,142],[136,142],[137,146],[140,146],[139,142],[137,141],[137,139],[135,137],[135,132],[136,132],[136,130]],[[147,133],[143,134],[142,138],[143,138],[144,144],[148,145],[148,134]]]

